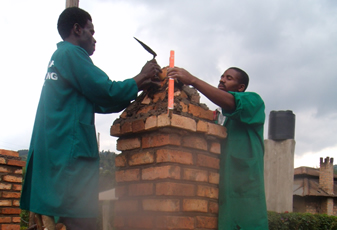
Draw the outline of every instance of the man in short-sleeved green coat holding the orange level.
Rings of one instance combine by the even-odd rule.
[[[226,116],[228,135],[221,145],[218,229],[268,229],[263,177],[265,105],[258,94],[245,92],[248,75],[239,68],[229,68],[218,88],[177,67],[169,69],[168,76],[195,87]]]

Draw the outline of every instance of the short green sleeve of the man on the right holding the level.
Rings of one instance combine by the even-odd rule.
[[[265,105],[262,98],[253,92],[229,92],[235,98],[235,111],[227,113],[222,109],[224,116],[245,124],[264,124]]]

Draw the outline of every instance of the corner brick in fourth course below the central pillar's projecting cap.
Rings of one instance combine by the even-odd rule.
[[[195,185],[173,182],[156,184],[156,195],[161,196],[195,196]]]

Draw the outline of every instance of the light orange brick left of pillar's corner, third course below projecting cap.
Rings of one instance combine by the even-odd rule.
[[[160,166],[142,169],[142,180],[180,179],[180,167]]]

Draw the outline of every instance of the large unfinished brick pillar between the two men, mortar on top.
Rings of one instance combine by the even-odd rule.
[[[116,156],[117,230],[217,229],[226,130],[214,124],[213,112],[197,103],[195,93],[176,91],[171,116],[166,99],[166,91],[142,97],[130,105],[138,103],[139,110],[127,108],[111,127],[122,151]]]

